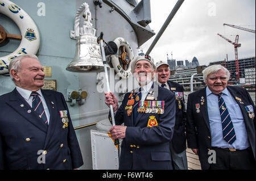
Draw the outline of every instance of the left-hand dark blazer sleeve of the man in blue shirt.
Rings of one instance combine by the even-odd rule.
[[[187,102],[187,124],[186,124],[186,136],[188,142],[188,148],[197,149],[197,139],[196,136],[196,125],[193,119],[192,103],[191,103],[191,94],[188,95]]]

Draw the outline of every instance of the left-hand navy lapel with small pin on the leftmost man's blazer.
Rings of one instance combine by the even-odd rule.
[[[36,116],[30,105],[19,94],[16,88],[10,94],[10,101],[6,103],[35,127],[39,128],[43,132],[47,132],[47,127],[44,125],[43,121],[40,120],[38,116]]]

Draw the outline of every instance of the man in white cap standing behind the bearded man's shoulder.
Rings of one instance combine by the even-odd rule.
[[[176,97],[174,137],[172,137],[170,148],[172,154],[172,163],[175,170],[188,170],[185,136],[186,110],[184,105],[183,86],[181,86],[179,83],[168,81],[170,78],[170,69],[166,62],[157,62],[156,72],[158,73],[159,86],[174,92]]]

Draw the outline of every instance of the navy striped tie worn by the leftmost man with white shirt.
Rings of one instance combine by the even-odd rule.
[[[32,109],[38,115],[40,119],[44,122],[44,124],[47,124],[47,117],[46,117],[46,111],[44,110],[42,100],[38,96],[38,92],[31,92],[31,96],[33,96],[32,99]]]

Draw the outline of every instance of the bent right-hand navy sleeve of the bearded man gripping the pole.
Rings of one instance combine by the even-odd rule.
[[[127,144],[156,145],[172,139],[175,125],[175,95],[168,94],[164,100],[164,113],[159,115],[157,127],[127,127]]]

